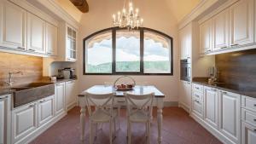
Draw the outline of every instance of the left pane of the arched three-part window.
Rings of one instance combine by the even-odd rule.
[[[85,72],[112,72],[112,32],[104,32],[85,42]]]

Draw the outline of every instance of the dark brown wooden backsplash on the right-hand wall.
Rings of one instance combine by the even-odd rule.
[[[242,88],[256,86],[256,49],[216,55],[219,81]]]

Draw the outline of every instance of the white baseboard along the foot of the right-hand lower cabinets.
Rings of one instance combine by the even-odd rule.
[[[221,134],[218,130],[207,124],[202,118],[199,118],[194,113],[191,113],[190,117],[194,118],[197,123],[201,124],[202,127],[208,130],[212,135],[214,135],[219,141],[223,142],[224,144],[236,144],[234,141],[231,141],[228,137]]]

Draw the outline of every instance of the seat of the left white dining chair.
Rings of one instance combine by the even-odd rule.
[[[109,110],[105,110],[109,111]],[[113,117],[117,116],[117,112],[113,111]],[[96,110],[92,113],[91,120],[96,123],[109,122],[111,116],[109,116],[106,112],[103,112],[102,109]]]

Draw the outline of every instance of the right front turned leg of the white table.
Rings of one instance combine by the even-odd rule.
[[[157,126],[158,126],[158,143],[162,143],[162,124],[163,124],[163,104],[162,98],[157,100]]]

